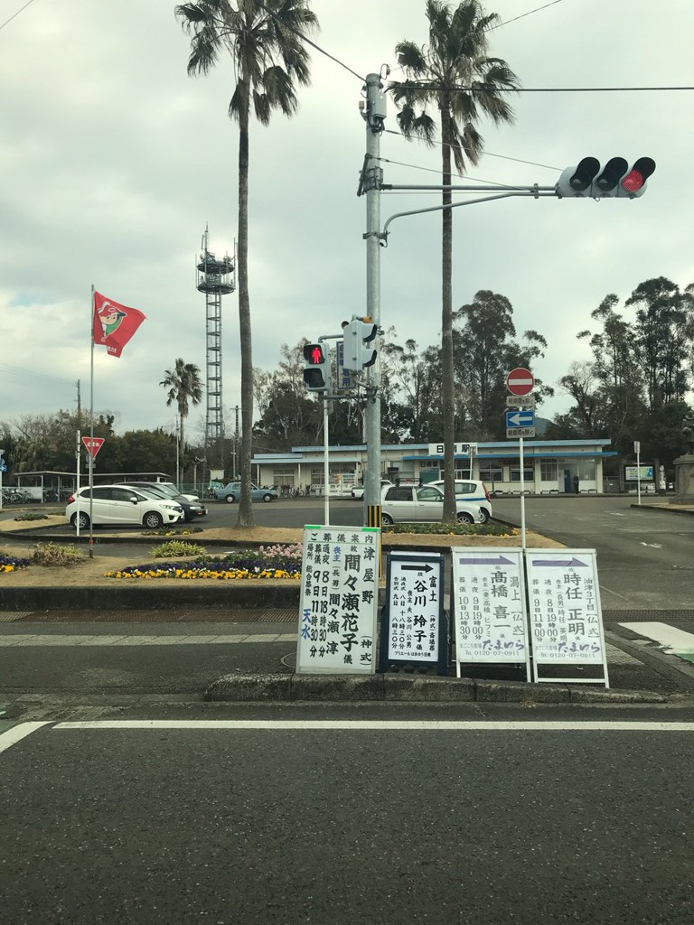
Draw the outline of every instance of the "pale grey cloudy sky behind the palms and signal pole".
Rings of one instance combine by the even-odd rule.
[[[546,3],[546,0],[545,0]],[[204,369],[204,297],[194,259],[233,253],[236,126],[225,61],[189,78],[190,40],[169,0],[0,0],[0,420],[89,405],[92,285],[147,321],[120,359],[95,351],[94,408],[118,431],[172,427],[158,383],[176,357]],[[424,0],[314,0],[314,37],[362,78],[395,44],[426,43]],[[694,85],[691,0],[496,0],[491,53],[529,90]],[[18,14],[18,15],[15,15]],[[524,15],[529,14],[529,15]],[[9,21],[7,21],[9,20]],[[510,21],[507,21],[510,20]],[[3,25],[4,24],[4,25]],[[291,120],[252,126],[250,289],[254,364],[282,343],[336,333],[366,310],[363,80],[318,52]],[[635,201],[511,199],[454,211],[453,303],[507,296],[520,333],[549,344],[535,373],[556,384],[588,359],[576,332],[608,292],[644,279],[694,282],[694,93],[522,93],[514,127],[482,126],[487,154],[470,181],[553,184],[594,154],[657,170]],[[390,183],[436,183],[440,149],[381,139]],[[397,162],[397,163],[396,163]],[[383,194],[381,216],[438,194]],[[424,347],[440,333],[440,214],[396,221],[382,252],[381,321]],[[628,310],[627,310],[628,312]],[[224,404],[239,403],[238,302],[223,302]],[[564,411],[557,397],[546,416]],[[188,433],[194,433],[193,413]]]

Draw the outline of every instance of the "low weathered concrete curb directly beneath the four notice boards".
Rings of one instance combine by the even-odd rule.
[[[655,691],[403,674],[225,674],[207,687],[203,699],[226,703],[340,700],[521,703],[527,706],[540,703],[664,704],[683,700],[682,695],[663,695]]]

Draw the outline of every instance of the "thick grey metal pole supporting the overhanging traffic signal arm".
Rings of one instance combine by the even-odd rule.
[[[366,75],[366,314],[380,328],[380,133],[386,115],[386,97],[378,74]],[[376,364],[367,376],[366,478],[364,504],[366,526],[380,526],[380,336],[373,342]],[[326,522],[327,523],[327,522]]]

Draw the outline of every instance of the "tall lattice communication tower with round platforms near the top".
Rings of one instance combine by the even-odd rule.
[[[208,247],[205,226],[202,252],[197,264],[197,288],[204,292],[205,388],[204,450],[207,467],[224,468],[224,413],[222,408],[222,296],[236,289],[234,259],[228,253],[217,258]]]

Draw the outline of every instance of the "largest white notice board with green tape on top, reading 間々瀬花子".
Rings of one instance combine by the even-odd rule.
[[[376,671],[377,527],[306,526],[297,673]]]

